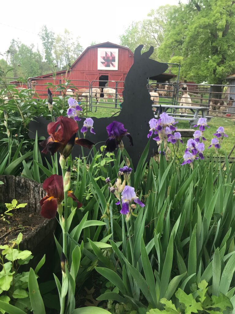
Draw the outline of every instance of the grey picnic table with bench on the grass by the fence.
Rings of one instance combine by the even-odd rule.
[[[159,108],[160,105],[152,105],[152,107]],[[169,113],[175,120],[188,121],[190,126],[193,126],[200,117],[206,118],[210,121],[212,116],[206,116],[208,107],[194,107],[194,106],[174,106],[174,105],[161,105],[163,111]],[[176,113],[177,109],[189,109],[190,113]],[[170,112],[169,112],[170,111]],[[157,112],[157,110],[156,110]],[[201,114],[200,114],[201,112]],[[157,117],[156,115],[154,115]]]

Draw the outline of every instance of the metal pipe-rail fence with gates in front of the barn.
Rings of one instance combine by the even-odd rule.
[[[4,78],[5,82],[5,78]],[[0,102],[8,98],[9,92],[4,90],[4,82],[0,78]],[[50,88],[53,96],[73,96],[86,106],[90,111],[96,112],[97,109],[116,109],[122,108],[122,93],[124,90],[124,81],[100,81],[93,80],[66,80],[61,78],[35,78],[23,80],[20,82],[18,78],[6,78],[9,85],[14,85],[17,89],[31,90],[32,98],[46,99],[47,89]],[[156,92],[158,99],[154,99],[154,104],[161,105],[188,105],[183,96],[182,86],[186,85],[188,95],[191,99],[192,106],[208,107],[207,115],[226,117],[235,119],[235,85],[210,85],[210,84],[172,84],[172,83],[150,83],[147,84],[149,92]],[[59,88],[58,88],[59,86]],[[108,88],[109,93],[104,93],[104,89]],[[215,90],[220,89],[220,91]],[[70,89],[70,92],[68,91]],[[100,89],[100,92],[93,93],[92,90]],[[72,92],[71,92],[72,91]],[[84,95],[86,94],[86,96]],[[4,95],[4,97],[3,97]],[[4,99],[3,99],[4,98]],[[182,108],[183,109],[183,108]],[[174,111],[177,114],[177,111]],[[187,113],[186,111],[181,113]]]

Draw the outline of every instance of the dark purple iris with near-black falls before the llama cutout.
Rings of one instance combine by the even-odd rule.
[[[108,152],[112,153],[117,148],[117,145],[121,143],[123,136],[128,137],[131,146],[133,146],[133,139],[121,122],[113,121],[106,127],[106,130],[108,132],[108,139],[106,141],[106,150]]]

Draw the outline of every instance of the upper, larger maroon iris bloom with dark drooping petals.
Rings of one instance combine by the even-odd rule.
[[[91,148],[94,143],[84,138],[76,138],[77,130],[76,121],[67,117],[60,116],[56,122],[50,122],[47,126],[47,132],[50,136],[40,143],[44,147],[42,153],[50,152],[54,155],[59,151],[66,159],[74,144]]]

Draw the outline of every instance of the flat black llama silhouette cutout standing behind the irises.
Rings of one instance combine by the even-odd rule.
[[[132,159],[134,167],[137,166],[138,160],[148,142],[147,135],[149,133],[149,120],[154,117],[154,112],[152,111],[152,100],[150,99],[150,94],[146,88],[147,78],[164,73],[168,65],[165,63],[160,63],[155,60],[149,59],[154,51],[154,47],[150,47],[149,51],[141,54],[143,45],[138,46],[134,52],[134,62],[129,72],[127,73],[124,90],[123,90],[123,104],[122,110],[118,116],[105,117],[105,118],[95,118],[94,120],[94,131],[96,134],[91,134],[90,131],[86,133],[86,138],[93,143],[102,142],[97,145],[97,149],[105,144],[108,138],[106,126],[113,121],[122,122],[124,127],[127,129],[133,138],[133,146],[130,146],[128,138],[123,138],[123,144],[125,149],[128,151]],[[85,118],[82,118],[79,122],[79,129],[83,126]],[[39,122],[39,123],[38,123]],[[43,117],[37,118],[36,122],[30,122],[29,124],[29,134],[35,138],[36,130],[38,131],[38,136],[47,137],[47,124]],[[81,134],[82,136],[82,134]],[[149,156],[156,151],[157,145],[155,141],[151,141]],[[84,148],[86,155],[89,154],[89,150]],[[79,156],[81,154],[81,147],[75,145],[72,151],[73,157]]]

